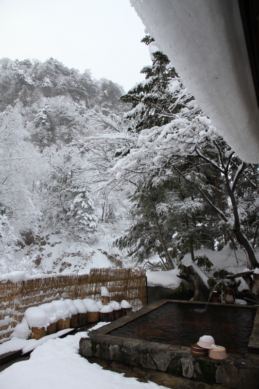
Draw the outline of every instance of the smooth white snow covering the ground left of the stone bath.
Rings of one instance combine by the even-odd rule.
[[[87,337],[87,332],[48,340],[40,345],[29,360],[17,362],[0,373],[1,389],[163,388],[153,382],[142,383],[136,378],[125,378],[123,374],[89,363],[78,354],[81,337]]]

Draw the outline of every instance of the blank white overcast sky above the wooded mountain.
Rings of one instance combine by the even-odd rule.
[[[0,0],[0,58],[53,57],[125,90],[151,64],[144,35],[129,0]]]

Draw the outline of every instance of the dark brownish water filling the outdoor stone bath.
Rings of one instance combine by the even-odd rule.
[[[190,347],[200,336],[213,336],[227,353],[245,354],[252,334],[256,309],[167,302],[154,311],[113,330],[109,335]]]

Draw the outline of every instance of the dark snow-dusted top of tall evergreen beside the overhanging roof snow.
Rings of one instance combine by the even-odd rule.
[[[142,39],[146,45],[152,45],[153,41],[149,35]],[[192,95],[184,93],[180,100],[179,93],[175,93],[183,92],[184,85],[167,55],[156,51],[152,56],[152,66],[146,66],[140,71],[146,75],[145,81],[121,96],[121,101],[130,103],[133,108],[125,117],[138,115],[138,131],[169,123],[172,115],[180,112],[193,99]]]

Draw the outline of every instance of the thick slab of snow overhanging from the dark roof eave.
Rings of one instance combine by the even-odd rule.
[[[259,162],[259,108],[238,0],[130,0],[203,112],[246,162]]]

